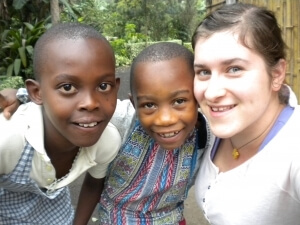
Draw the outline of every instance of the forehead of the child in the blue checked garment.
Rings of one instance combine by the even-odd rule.
[[[68,74],[74,78],[93,77],[95,80],[115,76],[113,52],[101,40],[59,40],[49,43],[45,50],[43,60],[39,61],[40,76],[47,74],[47,77],[54,78]]]

